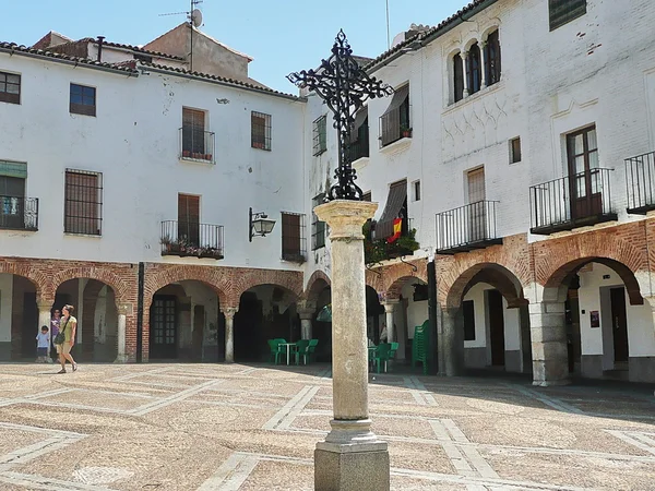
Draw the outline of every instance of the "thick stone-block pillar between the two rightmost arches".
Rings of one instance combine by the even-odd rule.
[[[569,383],[569,355],[564,302],[529,304],[533,385]]]

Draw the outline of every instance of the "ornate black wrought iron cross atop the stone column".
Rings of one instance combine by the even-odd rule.
[[[353,58],[343,29],[336,35],[332,56],[321,60],[319,69],[290,73],[287,79],[300,88],[315,92],[334,115],[334,128],[338,133],[338,167],[334,172],[337,182],[330,189],[327,200],[361,200],[362,192],[355,184],[357,176],[350,158],[355,115],[366,100],[392,95],[393,88],[361,69]]]

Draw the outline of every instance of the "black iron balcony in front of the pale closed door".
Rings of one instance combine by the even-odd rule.
[[[437,253],[456,254],[502,243],[496,228],[497,201],[478,201],[437,214]]]

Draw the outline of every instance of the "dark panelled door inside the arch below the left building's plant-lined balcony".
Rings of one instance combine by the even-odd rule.
[[[151,307],[150,358],[177,358],[176,297],[156,295]]]

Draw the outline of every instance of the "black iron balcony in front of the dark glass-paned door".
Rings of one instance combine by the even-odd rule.
[[[531,232],[550,235],[616,220],[611,171],[592,169],[531,187]]]

